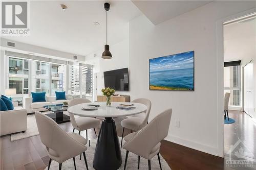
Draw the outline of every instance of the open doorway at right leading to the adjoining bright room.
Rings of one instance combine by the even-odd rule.
[[[228,94],[224,110],[229,114],[229,119],[224,118],[224,158],[250,161],[247,165],[253,167],[256,165],[256,13],[224,22],[222,27],[224,94]],[[229,167],[245,169],[247,165]]]

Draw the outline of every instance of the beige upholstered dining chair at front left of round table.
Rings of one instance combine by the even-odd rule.
[[[86,139],[76,133],[65,132],[53,119],[38,111],[35,111],[35,119],[41,142],[46,146],[50,157],[48,170],[52,159],[59,163],[60,170],[62,163],[71,158],[73,158],[76,169],[75,156],[81,153],[83,153],[88,170],[86,154],[84,153],[87,150]]]

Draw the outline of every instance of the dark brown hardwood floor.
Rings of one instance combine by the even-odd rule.
[[[230,111],[229,116],[236,119],[237,124],[225,125],[225,152],[227,145],[236,142],[237,136],[241,139],[247,139],[251,137],[254,132],[253,139],[247,139],[245,142],[250,143],[251,147],[256,146],[255,138],[256,131],[255,125],[253,130],[248,130],[248,121],[246,115],[241,112]],[[238,117],[236,117],[238,116]],[[240,118],[239,118],[240,117]],[[244,118],[245,117],[245,118]],[[248,117],[247,117],[248,118]],[[247,122],[247,126],[243,126],[243,123]],[[232,128],[233,126],[233,128]],[[243,127],[240,127],[243,126]],[[251,129],[253,124],[250,124]],[[73,128],[71,123],[60,124],[60,127],[67,131],[72,132]],[[247,132],[245,132],[247,131]],[[249,135],[250,134],[250,135]],[[82,134],[84,135],[84,134]],[[89,138],[96,138],[94,131],[89,130]],[[233,136],[233,137],[232,137]],[[32,136],[25,139],[20,139],[11,142],[10,135],[1,137],[1,169],[44,169],[49,162],[49,157],[45,146],[41,143],[39,136]],[[255,152],[255,150],[254,150]],[[232,169],[227,167],[225,159],[209,155],[200,151],[196,151],[182,145],[172,143],[166,140],[161,142],[160,154],[167,161],[169,166],[173,169]],[[243,169],[243,168],[234,168]]]

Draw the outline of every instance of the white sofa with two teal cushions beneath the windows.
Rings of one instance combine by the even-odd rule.
[[[32,102],[32,97],[26,97],[23,100],[23,107],[27,110],[27,113],[34,113],[35,111],[47,111],[44,108],[46,105],[57,105],[63,102],[70,102],[72,99],[70,95],[66,95],[67,100],[56,100],[56,96],[46,96],[46,102]]]

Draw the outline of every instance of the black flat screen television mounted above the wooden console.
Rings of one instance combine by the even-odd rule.
[[[104,71],[104,85],[117,91],[129,91],[128,68]]]

